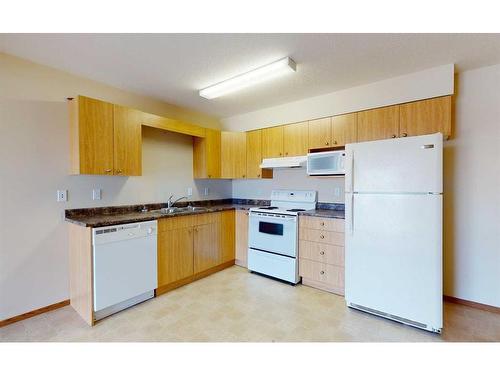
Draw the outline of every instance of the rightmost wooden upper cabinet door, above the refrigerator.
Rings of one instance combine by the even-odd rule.
[[[443,133],[451,135],[451,96],[400,105],[400,136]]]

